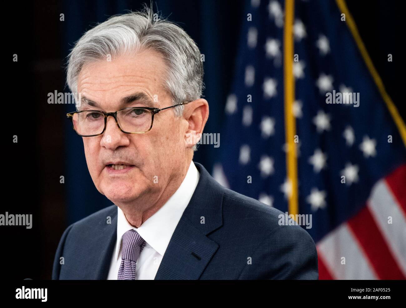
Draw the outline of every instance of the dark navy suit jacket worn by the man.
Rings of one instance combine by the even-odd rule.
[[[318,279],[315,243],[306,230],[279,225],[284,213],[221,186],[194,164],[199,183],[155,280]],[[107,279],[116,237],[116,205],[71,224],[56,250],[52,279]]]

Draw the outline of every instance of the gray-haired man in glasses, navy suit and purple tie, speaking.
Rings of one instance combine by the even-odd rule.
[[[67,114],[114,205],[72,225],[52,279],[317,279],[317,252],[281,211],[192,161],[209,116],[194,41],[151,9],[87,31],[69,55]],[[190,142],[190,140],[193,140]]]

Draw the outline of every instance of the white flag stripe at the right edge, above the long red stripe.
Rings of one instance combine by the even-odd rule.
[[[406,275],[406,222],[400,205],[393,198],[386,181],[379,181],[374,186],[368,207],[388,243],[393,257],[401,267],[403,274]],[[392,218],[391,224],[388,223],[389,216]]]

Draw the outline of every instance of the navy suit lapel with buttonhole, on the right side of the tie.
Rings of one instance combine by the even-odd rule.
[[[199,163],[197,187],[164,253],[159,279],[199,279],[218,244],[207,234],[222,226],[223,189]]]

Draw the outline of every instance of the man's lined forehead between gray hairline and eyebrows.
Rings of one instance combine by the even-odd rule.
[[[163,87],[166,70],[162,56],[153,50],[112,57],[111,61],[106,57],[83,66],[78,76],[78,92],[106,108],[117,106],[122,97],[136,92],[162,101],[168,96]]]

